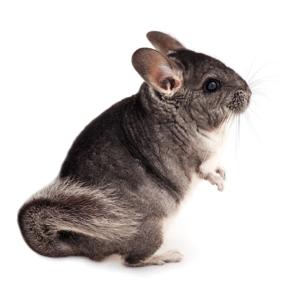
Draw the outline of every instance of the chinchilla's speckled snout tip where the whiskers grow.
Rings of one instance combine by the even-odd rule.
[[[227,107],[237,114],[243,113],[250,104],[251,94],[252,92],[248,86],[236,90]]]

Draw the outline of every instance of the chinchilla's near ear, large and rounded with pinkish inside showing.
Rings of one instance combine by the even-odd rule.
[[[171,97],[182,86],[182,70],[168,57],[149,49],[134,52],[132,65],[139,75],[166,97]]]

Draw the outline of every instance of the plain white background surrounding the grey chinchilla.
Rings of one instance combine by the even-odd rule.
[[[294,7],[292,1],[0,2],[1,285],[295,285]],[[137,92],[133,52],[160,30],[224,61],[253,94],[223,193],[202,182],[164,248],[180,263],[48,258],[19,232],[22,203],[49,183],[94,117]],[[252,67],[251,67],[252,66]],[[254,102],[255,100],[255,102]],[[255,114],[256,115],[255,115]],[[251,128],[250,128],[251,127]]]

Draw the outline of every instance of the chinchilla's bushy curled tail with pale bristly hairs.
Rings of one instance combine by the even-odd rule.
[[[140,215],[111,186],[89,187],[73,179],[56,179],[34,194],[18,212],[18,224],[35,252],[77,255],[64,233],[102,241],[121,241],[136,234]]]

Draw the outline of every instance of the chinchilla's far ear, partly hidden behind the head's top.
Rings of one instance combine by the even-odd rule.
[[[150,31],[147,38],[155,49],[164,55],[185,49],[176,39],[162,32]]]

